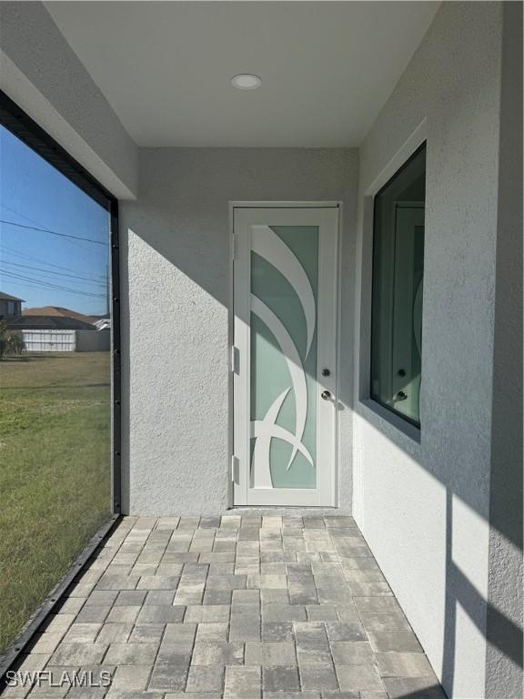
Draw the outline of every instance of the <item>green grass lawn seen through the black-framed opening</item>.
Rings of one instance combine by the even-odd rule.
[[[110,512],[110,356],[0,361],[0,653]]]

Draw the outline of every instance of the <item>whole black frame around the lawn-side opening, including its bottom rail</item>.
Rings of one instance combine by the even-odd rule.
[[[108,521],[95,533],[84,551],[80,552],[71,568],[65,573],[61,581],[49,593],[44,603],[36,610],[35,614],[25,625],[22,633],[15,638],[6,650],[0,655],[0,694],[5,688],[7,671],[20,663],[20,658],[29,648],[35,633],[42,630],[47,623],[50,614],[57,610],[65,601],[65,594],[76,584],[79,573],[83,572],[86,564],[92,556],[106,542],[107,537],[114,530],[116,523],[121,518],[121,333],[120,333],[120,260],[118,242],[118,200],[101,185],[85,167],[80,165],[74,157],[69,155],[64,147],[29,117],[9,96],[0,90],[0,125],[8,129],[15,137],[19,138],[26,146],[32,148],[35,153],[43,157],[50,165],[55,167],[77,187],[82,189],[90,198],[100,206],[106,208],[109,214],[110,227],[110,254],[111,254],[111,356],[112,356],[112,498],[113,512]]]

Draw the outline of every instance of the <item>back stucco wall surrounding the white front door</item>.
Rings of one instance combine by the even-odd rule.
[[[340,342],[352,346],[358,154],[351,149],[144,149],[122,207],[125,512],[223,512],[229,496],[228,201],[342,200]],[[353,367],[339,373],[352,395]],[[339,412],[340,498],[352,420]]]

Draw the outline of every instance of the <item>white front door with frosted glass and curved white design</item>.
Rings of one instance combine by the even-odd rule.
[[[234,208],[236,505],[336,504],[338,207]]]

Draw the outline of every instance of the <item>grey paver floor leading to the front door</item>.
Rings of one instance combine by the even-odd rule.
[[[111,684],[5,697],[445,697],[357,525],[335,515],[126,517],[21,669]]]

